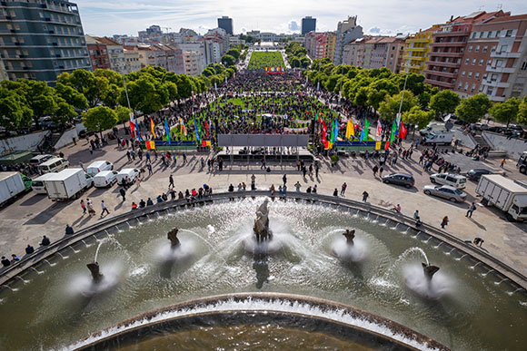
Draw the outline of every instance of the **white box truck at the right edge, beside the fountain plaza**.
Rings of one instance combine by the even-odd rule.
[[[483,205],[497,207],[510,221],[527,219],[527,184],[522,181],[500,174],[484,174],[476,193],[482,196]]]

